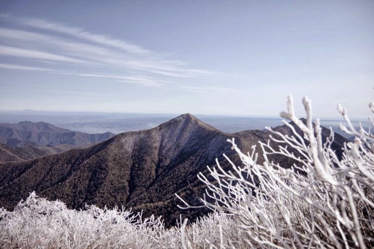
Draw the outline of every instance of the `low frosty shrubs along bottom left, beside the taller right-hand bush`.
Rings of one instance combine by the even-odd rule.
[[[164,229],[160,218],[142,219],[123,210],[69,210],[60,201],[48,201],[35,192],[19,202],[13,212],[0,209],[0,248],[212,248],[243,238],[232,233],[239,227],[230,217],[210,213],[195,223]]]

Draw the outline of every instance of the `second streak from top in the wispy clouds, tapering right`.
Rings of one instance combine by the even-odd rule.
[[[155,59],[152,56],[124,53],[111,47],[77,42],[60,36],[51,36],[36,32],[0,28],[0,37],[4,40],[14,41],[19,44],[27,41],[28,48],[40,47],[44,50],[60,53],[59,56],[75,58],[85,61],[86,64],[95,64],[121,68],[125,70],[143,71],[170,77],[197,77],[212,73],[206,70],[182,68],[182,62],[174,60]],[[14,44],[12,42],[12,44]],[[22,43],[22,45],[24,45]],[[47,53],[47,52],[46,52]],[[18,53],[20,56],[22,53]],[[25,53],[28,55],[29,53]],[[62,55],[63,54],[63,55]],[[56,54],[57,55],[57,54]],[[37,58],[37,56],[35,56]],[[51,58],[51,56],[49,57]]]

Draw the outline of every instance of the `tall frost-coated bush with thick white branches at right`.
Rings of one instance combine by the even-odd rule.
[[[260,142],[265,159],[262,164],[257,163],[255,147],[244,154],[234,139],[228,140],[243,165],[234,165],[226,157],[232,170],[225,171],[217,161],[217,167],[208,167],[213,180],[200,173],[199,178],[207,186],[201,200],[214,211],[232,215],[238,224],[238,230],[232,233],[245,234],[248,248],[373,248],[374,135],[362,127],[357,131],[346,110],[339,106],[348,124],[341,129],[356,136],[354,142],[342,148],[339,160],[331,149],[334,133],[331,131],[323,142],[319,120],[312,123],[306,97],[303,104],[305,123],[295,116],[289,97],[288,112],[281,116],[294,123],[283,121],[293,136],[268,128],[270,139],[279,146]],[[370,108],[374,112],[374,103]],[[295,163],[284,169],[269,160],[272,154],[291,158]]]

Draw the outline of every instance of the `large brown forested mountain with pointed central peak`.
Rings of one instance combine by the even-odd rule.
[[[179,214],[192,218],[207,212],[178,209],[175,193],[199,205],[197,197],[205,186],[196,175],[207,175],[206,165],[215,165],[216,158],[228,169],[222,154],[239,163],[228,138],[234,137],[242,151],[249,151],[258,141],[267,141],[268,135],[261,130],[227,134],[184,114],[153,129],[122,133],[90,148],[0,163],[0,206],[12,209],[35,190],[37,195],[59,199],[70,208],[84,208],[85,203],[123,205],[144,210],[145,215],[162,215],[167,225],[174,224]],[[333,144],[339,146],[342,144]],[[278,155],[272,159],[290,165]]]

